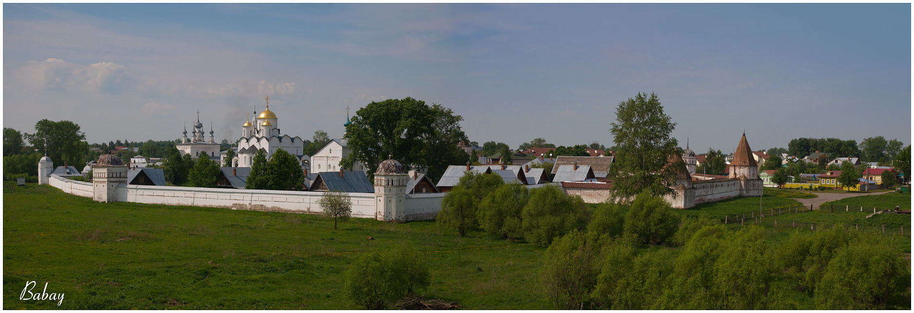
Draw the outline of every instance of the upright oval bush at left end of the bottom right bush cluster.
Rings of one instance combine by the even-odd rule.
[[[586,235],[572,230],[549,245],[540,280],[549,299],[560,309],[581,309],[599,275],[593,247]]]

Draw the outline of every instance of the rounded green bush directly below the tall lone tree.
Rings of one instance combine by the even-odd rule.
[[[663,245],[676,232],[679,215],[671,211],[663,198],[640,193],[625,215],[625,233],[634,235],[643,245]]]

